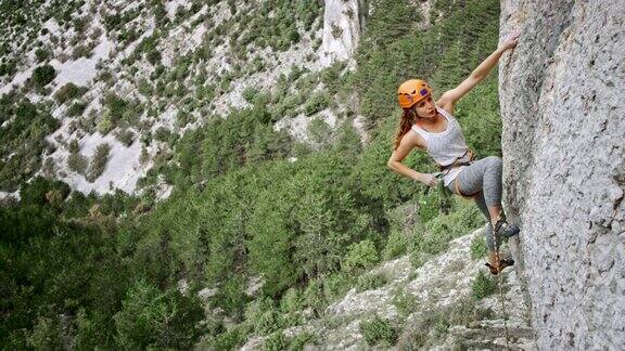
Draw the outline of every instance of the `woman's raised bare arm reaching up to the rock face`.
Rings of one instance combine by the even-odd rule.
[[[486,60],[484,60],[469,76],[464,79],[458,87],[446,91],[441,99],[436,102],[437,106],[445,108],[448,112],[452,112],[454,104],[462,96],[464,96],[473,87],[475,87],[482,79],[484,79],[488,73],[495,67],[499,57],[506,52],[506,50],[513,49],[519,42],[519,34],[513,34],[508,40],[497,48]]]

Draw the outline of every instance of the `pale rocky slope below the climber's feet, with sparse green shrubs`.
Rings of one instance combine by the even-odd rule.
[[[390,321],[398,336],[395,346],[381,343],[379,349],[535,350],[530,310],[514,270],[502,275],[502,296],[499,290],[481,300],[472,295],[477,273],[486,270],[482,259],[471,259],[469,247],[483,235],[477,230],[452,240],[447,251],[417,270],[409,257],[381,264],[365,275],[383,276],[385,284],[353,288],[328,307],[322,318],[310,318],[284,335],[310,334],[317,340],[312,349],[362,350],[370,348],[362,325],[378,316]],[[502,255],[509,252],[503,249]],[[262,350],[266,339],[255,337],[242,349]]]

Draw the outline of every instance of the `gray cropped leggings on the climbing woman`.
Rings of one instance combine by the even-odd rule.
[[[488,156],[479,159],[471,166],[464,167],[454,182],[458,182],[458,188],[462,195],[473,195],[479,192],[474,197],[475,204],[488,220],[486,245],[489,250],[495,250],[488,206],[501,206],[501,158]],[[456,193],[454,182],[447,187]],[[503,209],[501,209],[501,216],[503,217]]]

